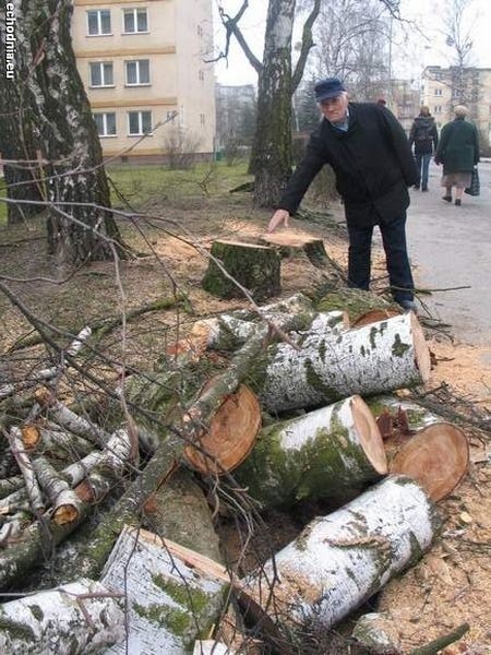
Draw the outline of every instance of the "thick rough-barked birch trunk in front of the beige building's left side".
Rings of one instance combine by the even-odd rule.
[[[32,111],[48,162],[49,250],[59,263],[111,259],[119,233],[105,209],[110,207],[110,196],[101,148],[73,53],[72,1],[14,0],[13,4],[20,70],[28,71],[17,84],[26,90],[25,107]],[[120,248],[116,250],[122,254]]]

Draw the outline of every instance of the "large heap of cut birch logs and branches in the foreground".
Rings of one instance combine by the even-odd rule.
[[[394,395],[429,379],[422,329],[326,301],[201,321],[160,371],[115,392],[110,429],[46,386],[22,419],[0,415],[0,594],[20,596],[0,606],[0,652],[232,653],[205,639],[231,596],[273,648],[301,652],[431,547],[468,446]],[[260,510],[339,509],[239,577],[203,492],[221,480]],[[45,562],[56,585],[24,595]]]

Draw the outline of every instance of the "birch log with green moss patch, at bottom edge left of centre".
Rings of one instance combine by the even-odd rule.
[[[220,564],[187,548],[125,528],[101,583],[127,599],[127,640],[106,655],[183,654],[216,622],[230,576]]]

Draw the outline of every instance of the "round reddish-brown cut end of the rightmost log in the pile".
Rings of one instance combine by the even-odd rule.
[[[391,463],[391,473],[417,480],[434,501],[451,493],[469,464],[469,444],[464,432],[447,422],[423,428]]]

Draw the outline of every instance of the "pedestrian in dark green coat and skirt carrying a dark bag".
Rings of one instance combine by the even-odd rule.
[[[443,164],[443,200],[452,202],[452,187],[455,187],[455,204],[459,206],[464,189],[470,187],[472,169],[479,163],[479,138],[476,126],[466,120],[467,107],[457,105],[454,112],[455,119],[442,128],[434,163]]]

